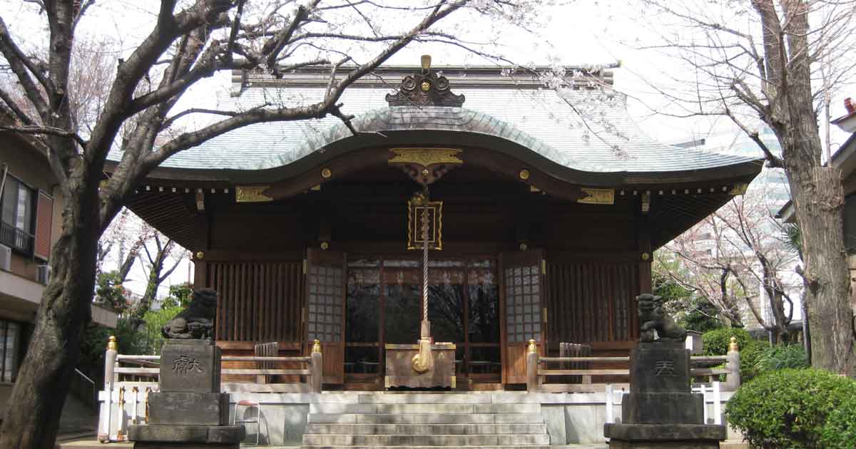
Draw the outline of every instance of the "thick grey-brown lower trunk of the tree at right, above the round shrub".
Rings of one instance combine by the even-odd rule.
[[[850,276],[841,221],[841,170],[790,167],[788,181],[802,231],[809,324],[824,329],[811,334],[811,364],[856,375]]]

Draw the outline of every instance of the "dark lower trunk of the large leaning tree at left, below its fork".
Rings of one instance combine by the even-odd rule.
[[[62,235],[51,251],[51,281],[42,294],[27,357],[6,404],[0,447],[54,447],[95,282],[98,194],[94,188],[88,190],[66,198]]]

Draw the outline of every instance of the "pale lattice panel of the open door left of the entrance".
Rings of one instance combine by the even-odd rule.
[[[342,340],[342,292],[345,280],[341,268],[310,266],[306,277],[309,287],[309,340],[337,343]]]

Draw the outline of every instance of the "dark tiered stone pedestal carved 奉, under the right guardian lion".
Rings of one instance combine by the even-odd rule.
[[[683,343],[639,343],[630,355],[630,393],[621,423],[605,424],[610,449],[716,449],[725,426],[704,423],[704,396],[690,393],[690,352]]]

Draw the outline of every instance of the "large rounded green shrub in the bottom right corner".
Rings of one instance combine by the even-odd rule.
[[[846,377],[820,369],[778,369],[740,387],[725,416],[759,449],[838,447],[819,446],[823,423],[853,395],[856,381]]]

